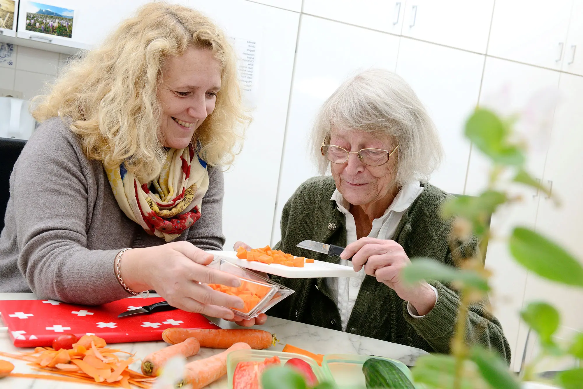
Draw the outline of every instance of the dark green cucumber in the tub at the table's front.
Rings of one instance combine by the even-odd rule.
[[[409,378],[394,363],[371,358],[363,364],[367,389],[415,389]]]

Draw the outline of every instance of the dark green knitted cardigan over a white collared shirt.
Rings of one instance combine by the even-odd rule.
[[[442,220],[440,216],[441,204],[451,195],[428,183],[422,183],[422,186],[423,192],[403,215],[394,240],[403,246],[412,261],[415,257],[429,257],[455,266],[449,249],[452,221]],[[283,209],[282,239],[275,249],[318,261],[338,262],[338,257],[296,247],[304,239],[346,246],[345,216],[336,208],[336,202],[330,200],[335,189],[334,180],[329,176],[311,178],[300,185]],[[471,253],[476,249],[476,240],[458,242],[456,249],[463,254]],[[338,307],[323,278],[272,276],[272,279],[296,293],[271,308],[267,312],[269,315],[342,331]],[[434,280],[427,282],[437,289],[436,305],[424,317],[413,318],[407,311],[406,301],[385,284],[377,282],[375,277],[367,275],[346,332],[428,352],[449,353],[459,296],[447,284]],[[508,341],[500,322],[489,313],[486,305],[487,301],[470,305],[466,341],[496,350],[510,364]]]

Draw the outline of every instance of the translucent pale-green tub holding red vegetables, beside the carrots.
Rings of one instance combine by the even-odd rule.
[[[235,373],[235,369],[239,362],[263,362],[265,358],[271,358],[274,356],[279,357],[279,360],[282,361],[282,366],[292,358],[304,360],[310,364],[319,383],[332,381],[332,377],[329,376],[324,369],[318,366],[318,362],[305,355],[269,350],[236,350],[227,355],[227,387],[233,389],[233,374]]]

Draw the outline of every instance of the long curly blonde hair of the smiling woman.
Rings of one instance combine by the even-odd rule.
[[[213,51],[221,66],[215,110],[195,131],[209,165],[230,165],[251,120],[241,103],[236,55],[222,30],[194,9],[163,2],[142,6],[100,47],[66,67],[47,95],[33,100],[38,121],[68,119],[89,159],[115,168],[125,161],[142,180],[156,178],[166,151],[157,98],[166,58],[189,47]],[[193,140],[194,141],[194,140]]]

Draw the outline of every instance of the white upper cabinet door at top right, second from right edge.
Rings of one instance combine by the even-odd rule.
[[[494,6],[488,54],[561,69],[568,53],[573,0],[500,0]]]

